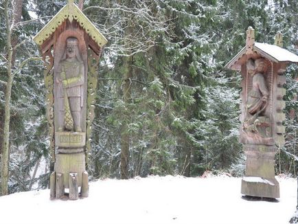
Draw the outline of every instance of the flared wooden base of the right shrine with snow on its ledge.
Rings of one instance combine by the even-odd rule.
[[[279,198],[279,183],[275,179],[276,146],[244,145],[247,155],[241,193],[255,197]]]

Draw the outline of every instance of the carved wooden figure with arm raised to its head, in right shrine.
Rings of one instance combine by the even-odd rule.
[[[247,133],[255,133],[260,137],[268,137],[271,132],[270,119],[262,112],[266,109],[269,91],[266,87],[264,75],[266,74],[267,65],[264,58],[255,60],[252,89],[247,95],[246,109],[247,116],[243,123],[243,130]]]

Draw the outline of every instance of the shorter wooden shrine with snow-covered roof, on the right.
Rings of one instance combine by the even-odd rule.
[[[275,45],[255,42],[249,27],[246,46],[225,66],[242,75],[239,139],[247,161],[241,193],[248,196],[279,198],[274,164],[277,148],[285,143],[284,72],[288,63],[298,63],[298,56],[282,45],[280,33]]]

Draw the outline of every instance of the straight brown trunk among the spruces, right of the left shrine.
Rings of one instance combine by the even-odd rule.
[[[124,87],[123,87],[123,98],[124,103],[127,104],[130,102],[130,86],[131,78],[133,74],[133,56],[124,57],[126,71],[124,73]],[[128,112],[128,111],[126,111]],[[129,116],[129,114],[127,114]],[[121,179],[128,179],[128,158],[129,158],[129,141],[130,136],[127,133],[127,122],[124,122],[121,130]]]

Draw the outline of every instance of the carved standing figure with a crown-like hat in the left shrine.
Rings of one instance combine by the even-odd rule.
[[[67,38],[65,52],[58,66],[58,131],[82,132],[84,63],[78,49],[78,39]]]

